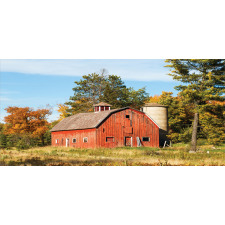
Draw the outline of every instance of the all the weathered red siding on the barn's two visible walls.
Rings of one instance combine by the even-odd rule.
[[[84,137],[88,138],[87,143],[83,142]],[[111,114],[98,128],[52,132],[52,146],[66,146],[69,138],[69,146],[76,148],[122,147],[130,142],[137,147],[137,137],[142,146],[159,147],[159,127],[145,113],[125,109]],[[150,141],[142,141],[143,137],[149,137]],[[73,138],[76,143],[72,143]]]

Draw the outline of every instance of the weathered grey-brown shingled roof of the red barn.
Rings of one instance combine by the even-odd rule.
[[[73,116],[66,117],[65,119],[60,121],[51,129],[51,131],[83,130],[83,129],[95,128],[95,127],[98,127],[98,125],[100,125],[100,123],[102,123],[111,114],[122,111],[124,109],[130,109],[130,107],[125,107],[121,109],[112,109],[112,110],[101,111],[96,113],[95,112],[78,113]],[[136,111],[139,111],[139,110],[136,110]]]

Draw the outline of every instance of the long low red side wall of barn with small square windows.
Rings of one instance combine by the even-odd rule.
[[[87,137],[88,142],[84,142],[83,138]],[[68,130],[52,132],[52,146],[66,146],[66,139],[69,138],[69,147],[75,148],[95,148],[96,147],[96,129],[86,130]],[[72,139],[76,138],[76,143],[72,143]],[[56,139],[59,143],[56,143]]]

